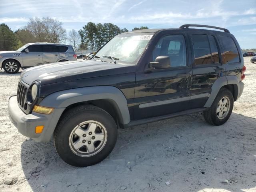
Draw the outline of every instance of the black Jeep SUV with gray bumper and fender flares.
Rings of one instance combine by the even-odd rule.
[[[9,116],[37,142],[53,136],[68,164],[89,166],[110,154],[117,128],[195,112],[224,124],[243,92],[245,70],[241,48],[224,28],[126,32],[92,60],[24,70]]]

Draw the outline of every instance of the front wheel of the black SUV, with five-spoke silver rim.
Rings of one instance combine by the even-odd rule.
[[[95,131],[89,132],[94,127]],[[97,138],[103,139],[96,141]],[[113,150],[116,139],[117,125],[112,116],[90,105],[65,112],[54,131],[57,153],[64,162],[77,167],[91,166],[104,160]]]

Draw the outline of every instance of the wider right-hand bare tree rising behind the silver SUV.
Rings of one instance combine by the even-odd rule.
[[[42,23],[44,25],[44,31],[50,42],[59,43],[63,41],[66,36],[66,29],[62,27],[62,22],[57,19],[43,17]]]

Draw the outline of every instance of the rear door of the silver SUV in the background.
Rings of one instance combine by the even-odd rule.
[[[58,46],[55,45],[43,45],[43,63],[55,63],[60,59],[58,53]]]

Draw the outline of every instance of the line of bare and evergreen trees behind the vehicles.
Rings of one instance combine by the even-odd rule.
[[[146,26],[132,30],[148,29]],[[98,50],[117,34],[128,32],[126,28],[112,23],[88,22],[82,29],[63,28],[63,23],[53,18],[30,18],[26,26],[12,31],[6,24],[0,24],[0,51],[17,50],[27,43],[52,42],[70,44],[75,50]]]

